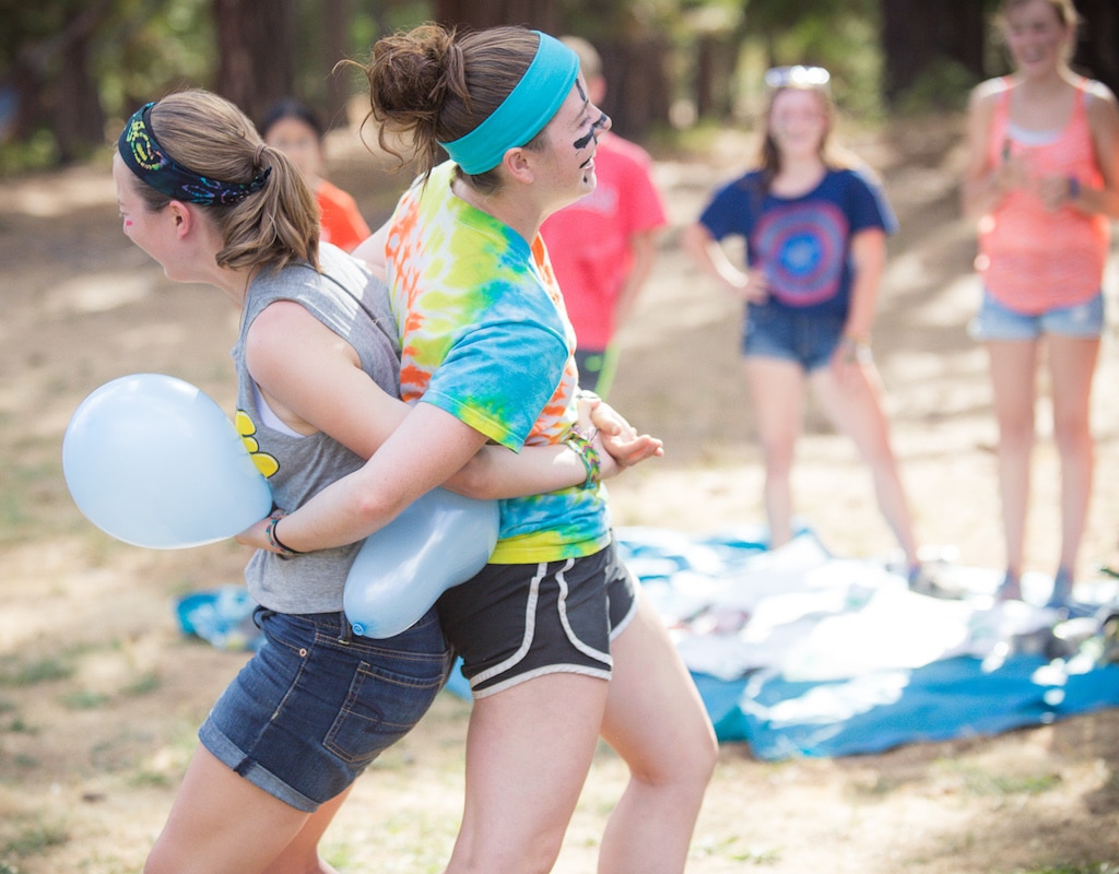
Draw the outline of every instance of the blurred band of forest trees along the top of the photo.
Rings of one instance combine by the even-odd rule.
[[[526,24],[592,40],[611,83],[605,111],[645,140],[697,121],[741,120],[770,65],[829,68],[840,106],[958,107],[1005,68],[988,39],[996,0],[49,0],[0,2],[0,173],[67,163],[132,107],[209,87],[258,119],[297,95],[332,126],[382,35],[424,20]],[[1119,3],[1076,0],[1075,63],[1119,91]]]

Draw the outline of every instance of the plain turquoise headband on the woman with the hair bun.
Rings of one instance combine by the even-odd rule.
[[[533,32],[540,38],[536,57],[509,96],[466,137],[440,143],[464,173],[492,170],[508,149],[532,140],[552,121],[575,84],[579,55],[555,37]]]

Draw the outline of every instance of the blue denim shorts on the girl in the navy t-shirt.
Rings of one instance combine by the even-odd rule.
[[[746,358],[781,358],[816,370],[831,360],[845,321],[839,313],[749,306],[742,326],[742,354]]]

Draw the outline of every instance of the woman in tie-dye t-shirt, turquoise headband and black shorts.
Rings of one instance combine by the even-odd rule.
[[[415,408],[363,471],[284,518],[298,549],[379,526],[378,489],[417,458],[435,482],[488,442],[586,445],[575,338],[538,233],[593,190],[595,135],[610,124],[575,54],[521,28],[425,26],[382,39],[365,69],[380,143],[421,171],[355,252],[387,270]],[[502,501],[490,564],[438,604],[474,696],[450,872],[551,871],[600,734],[631,779],[599,872],[684,870],[717,746],[619,560],[586,459],[580,487]]]

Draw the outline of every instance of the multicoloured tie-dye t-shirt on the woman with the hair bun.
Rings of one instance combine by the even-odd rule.
[[[451,191],[436,167],[393,214],[385,254],[401,337],[401,396],[433,404],[496,443],[563,441],[576,420],[574,332],[547,250]],[[610,539],[601,489],[501,501],[490,560],[591,555]]]

